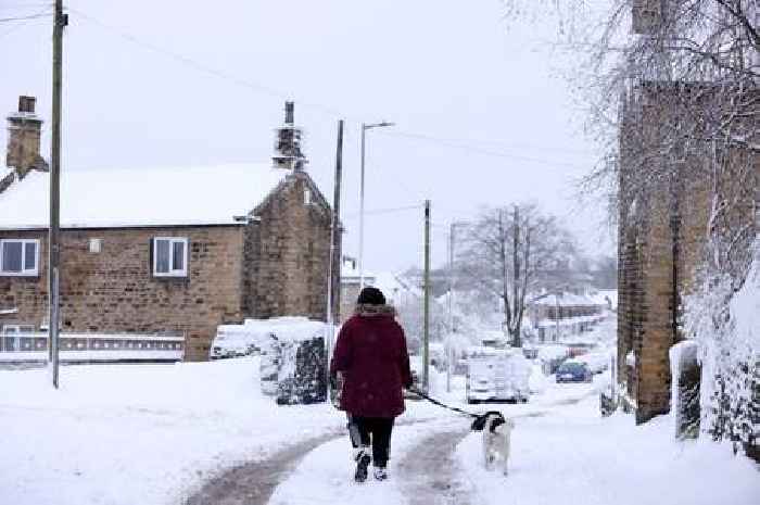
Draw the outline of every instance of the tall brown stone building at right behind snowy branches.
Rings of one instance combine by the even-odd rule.
[[[709,84],[644,81],[624,100],[618,189],[618,370],[637,422],[670,411],[669,350],[684,339],[683,299],[695,287],[708,240],[742,230],[732,238],[740,264],[739,256],[749,251],[758,232],[760,152],[742,142],[701,140],[705,124],[720,118],[720,99],[721,90]],[[684,123],[696,139],[689,150],[679,141],[661,149],[663,139]],[[736,134],[752,128],[739,123]],[[712,156],[722,159],[722,175],[706,169]],[[739,171],[745,171],[742,177]],[[712,204],[719,190],[733,204],[724,220],[714,222]]]

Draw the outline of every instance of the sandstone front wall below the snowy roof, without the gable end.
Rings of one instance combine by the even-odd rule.
[[[154,237],[189,239],[187,278],[152,276]],[[40,240],[39,277],[0,277],[2,305],[18,307],[17,323],[39,327],[48,311],[47,231],[0,231],[2,238]],[[94,238],[103,240],[100,253],[89,252]],[[186,358],[198,361],[207,358],[217,325],[242,319],[241,226],[64,230],[62,245],[64,331],[182,332]]]

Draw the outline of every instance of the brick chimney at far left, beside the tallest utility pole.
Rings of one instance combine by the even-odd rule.
[[[18,97],[18,112],[8,116],[5,165],[23,179],[29,171],[48,172],[48,163],[39,154],[42,119],[35,114],[34,97]]]

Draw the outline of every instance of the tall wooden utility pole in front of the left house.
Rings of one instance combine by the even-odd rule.
[[[59,386],[59,316],[60,316],[60,197],[61,197],[61,74],[63,28],[68,16],[63,13],[63,0],[55,0],[53,17],[53,121],[50,149],[50,228],[48,232],[48,341],[52,365],[53,387]]]

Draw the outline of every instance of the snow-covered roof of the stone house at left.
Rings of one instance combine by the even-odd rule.
[[[64,169],[61,226],[227,225],[284,180],[269,164]],[[0,194],[0,229],[47,228],[50,174],[31,171]]]

